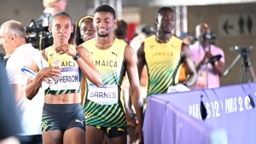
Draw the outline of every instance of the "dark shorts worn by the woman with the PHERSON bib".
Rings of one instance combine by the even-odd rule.
[[[81,104],[44,104],[42,132],[79,127],[85,130],[84,111]]]

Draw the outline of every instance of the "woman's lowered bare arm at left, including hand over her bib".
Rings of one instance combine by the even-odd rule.
[[[42,52],[43,58],[44,56],[44,50]],[[38,65],[32,60],[32,65],[30,68],[33,71],[38,72],[36,78],[32,80],[28,79],[27,86],[26,86],[26,98],[29,100],[32,100],[32,98],[38,94],[38,90],[44,80],[44,78],[53,78],[55,77],[61,77],[61,67],[60,66],[51,66],[51,67],[45,67],[42,70],[39,71]]]

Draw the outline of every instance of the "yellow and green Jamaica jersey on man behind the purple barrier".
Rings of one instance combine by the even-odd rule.
[[[155,35],[144,41],[148,96],[166,93],[169,86],[178,83],[182,43],[174,36],[167,43],[157,43]]]

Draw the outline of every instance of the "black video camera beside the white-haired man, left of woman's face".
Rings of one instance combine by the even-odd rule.
[[[53,37],[48,30],[48,26],[42,26],[42,21],[31,21],[29,26],[25,26],[26,43],[32,43],[36,49],[42,50],[53,44]]]

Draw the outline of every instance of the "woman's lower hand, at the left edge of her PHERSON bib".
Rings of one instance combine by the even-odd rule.
[[[41,71],[38,72],[39,75],[42,75],[45,80],[49,81],[48,78],[61,77],[61,67],[60,66],[51,66],[44,67]]]

